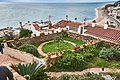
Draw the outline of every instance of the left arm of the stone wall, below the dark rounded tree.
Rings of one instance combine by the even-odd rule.
[[[54,34],[48,34],[48,35],[42,35],[42,36],[36,36],[36,37],[27,37],[27,38],[21,38],[21,39],[15,39],[7,41],[7,44],[9,47],[13,46],[19,46],[20,44],[30,44],[30,43],[36,43],[36,42],[45,42],[54,39],[56,36],[61,36],[63,32],[60,33],[54,33]]]

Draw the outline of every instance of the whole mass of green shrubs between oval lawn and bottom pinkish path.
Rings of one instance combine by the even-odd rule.
[[[99,43],[88,45],[83,49],[65,52],[58,61],[49,68],[52,72],[81,71],[87,68],[120,68],[120,51]]]

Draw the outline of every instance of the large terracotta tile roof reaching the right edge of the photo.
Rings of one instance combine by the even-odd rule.
[[[120,43],[120,30],[112,28],[104,29],[103,27],[99,26],[96,27],[88,26],[86,27],[86,29],[87,29],[87,31],[85,32],[86,34],[106,39],[112,42]]]

